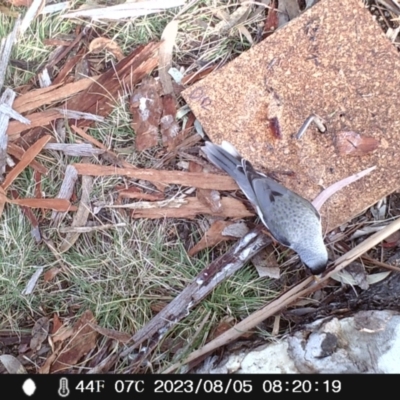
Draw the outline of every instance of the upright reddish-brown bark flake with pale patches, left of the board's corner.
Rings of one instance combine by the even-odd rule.
[[[131,97],[132,128],[136,134],[136,149],[146,150],[159,141],[162,114],[160,83],[149,76],[135,89]]]

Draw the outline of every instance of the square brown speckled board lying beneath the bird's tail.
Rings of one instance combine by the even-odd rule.
[[[362,1],[322,0],[183,95],[213,142],[231,142],[309,200],[376,165],[325,203],[329,231],[400,186],[399,88],[399,55]],[[327,133],[312,124],[295,139],[312,113]],[[342,131],[373,137],[378,147],[339,154]]]

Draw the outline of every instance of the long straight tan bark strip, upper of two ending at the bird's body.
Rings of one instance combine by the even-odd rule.
[[[202,189],[237,190],[235,181],[227,175],[191,173],[181,171],[162,171],[156,169],[116,168],[105,165],[73,164],[79,175],[129,176],[150,182],[176,184]]]

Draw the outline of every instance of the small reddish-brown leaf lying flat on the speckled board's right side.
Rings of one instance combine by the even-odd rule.
[[[379,141],[372,136],[357,132],[341,131],[335,135],[336,151],[341,156],[359,157],[371,153],[379,146]]]

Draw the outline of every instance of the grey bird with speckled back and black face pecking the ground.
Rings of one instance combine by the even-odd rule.
[[[256,171],[228,142],[206,142],[202,150],[236,181],[276,241],[293,249],[312,274],[325,271],[328,252],[321,216],[308,200]]]

